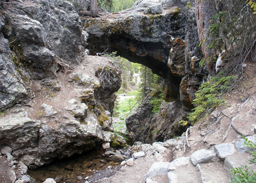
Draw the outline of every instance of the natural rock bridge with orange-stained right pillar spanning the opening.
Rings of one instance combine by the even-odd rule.
[[[194,9],[184,4],[171,8],[164,4],[162,13],[144,14],[141,11],[145,12],[148,5],[138,3],[129,11],[104,15],[106,18],[87,18],[88,48],[91,54],[109,48],[147,66],[164,78],[165,101],[180,100],[191,108],[205,73],[198,65],[202,55]]]

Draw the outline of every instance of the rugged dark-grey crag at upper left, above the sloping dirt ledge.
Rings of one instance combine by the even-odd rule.
[[[3,14],[3,33],[10,42],[15,40],[10,47],[16,65],[25,67],[32,78],[52,77],[61,62],[72,64],[82,60],[87,34],[69,1],[11,5],[13,8]]]

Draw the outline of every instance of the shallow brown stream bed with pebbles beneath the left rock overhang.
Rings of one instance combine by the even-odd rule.
[[[35,183],[42,183],[46,178],[53,178],[57,183],[84,183],[85,178],[108,169],[109,166],[119,165],[119,161],[103,156],[104,151],[92,150],[81,155],[55,160],[49,165],[30,169],[28,175]]]

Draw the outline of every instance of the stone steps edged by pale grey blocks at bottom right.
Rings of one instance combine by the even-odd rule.
[[[246,151],[250,150],[243,146],[224,143],[214,145],[214,150],[201,149],[191,156],[179,157],[170,163],[155,162],[150,167],[145,182],[164,183],[158,177],[165,175],[166,183],[229,183],[231,168],[247,165],[256,169],[255,165],[248,163],[250,156]]]

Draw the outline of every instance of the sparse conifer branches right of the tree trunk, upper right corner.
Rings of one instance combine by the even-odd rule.
[[[240,81],[243,75],[243,63],[251,59],[256,61],[255,30],[256,2],[255,0],[218,0],[210,1],[219,10],[212,16],[210,33],[199,46],[207,43],[207,49],[212,49],[208,55],[207,65],[214,65],[216,52],[222,54],[222,68],[226,75],[238,75]],[[214,58],[214,59],[213,59]],[[201,62],[201,66],[204,62]]]

